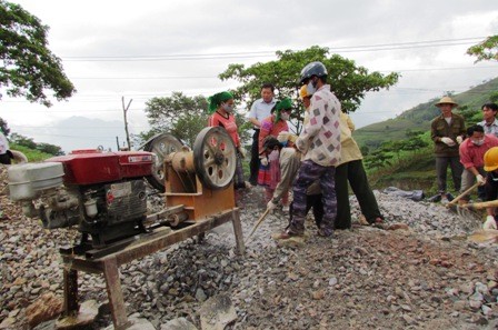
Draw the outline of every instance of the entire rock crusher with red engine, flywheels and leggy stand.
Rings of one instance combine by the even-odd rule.
[[[78,271],[103,273],[113,326],[126,329],[119,266],[229,221],[237,251],[245,252],[232,183],[236,148],[225,129],[205,128],[192,151],[168,133],[143,149],[79,150],[8,170],[10,198],[26,216],[48,229],[81,232],[79,244],[61,249],[66,318],[59,322],[78,317]],[[143,179],[165,192],[160,212],[147,214]]]

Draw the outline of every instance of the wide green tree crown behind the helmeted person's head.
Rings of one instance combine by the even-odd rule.
[[[301,69],[309,62],[321,61],[327,67],[328,82],[345,112],[357,110],[367,92],[388,89],[399,78],[396,72],[387,76],[369,72],[368,69],[357,66],[355,61],[338,54],[329,54],[328,48],[318,46],[302,51],[277,51],[276,54],[278,60],[258,62],[249,68],[243,64],[229,64],[219,78],[239,81],[241,84],[235,90],[236,98],[248,104],[260,97],[260,88],[265,82],[271,82],[277,87],[280,99],[290,97],[297,102]],[[296,114],[293,113],[295,118]]]

